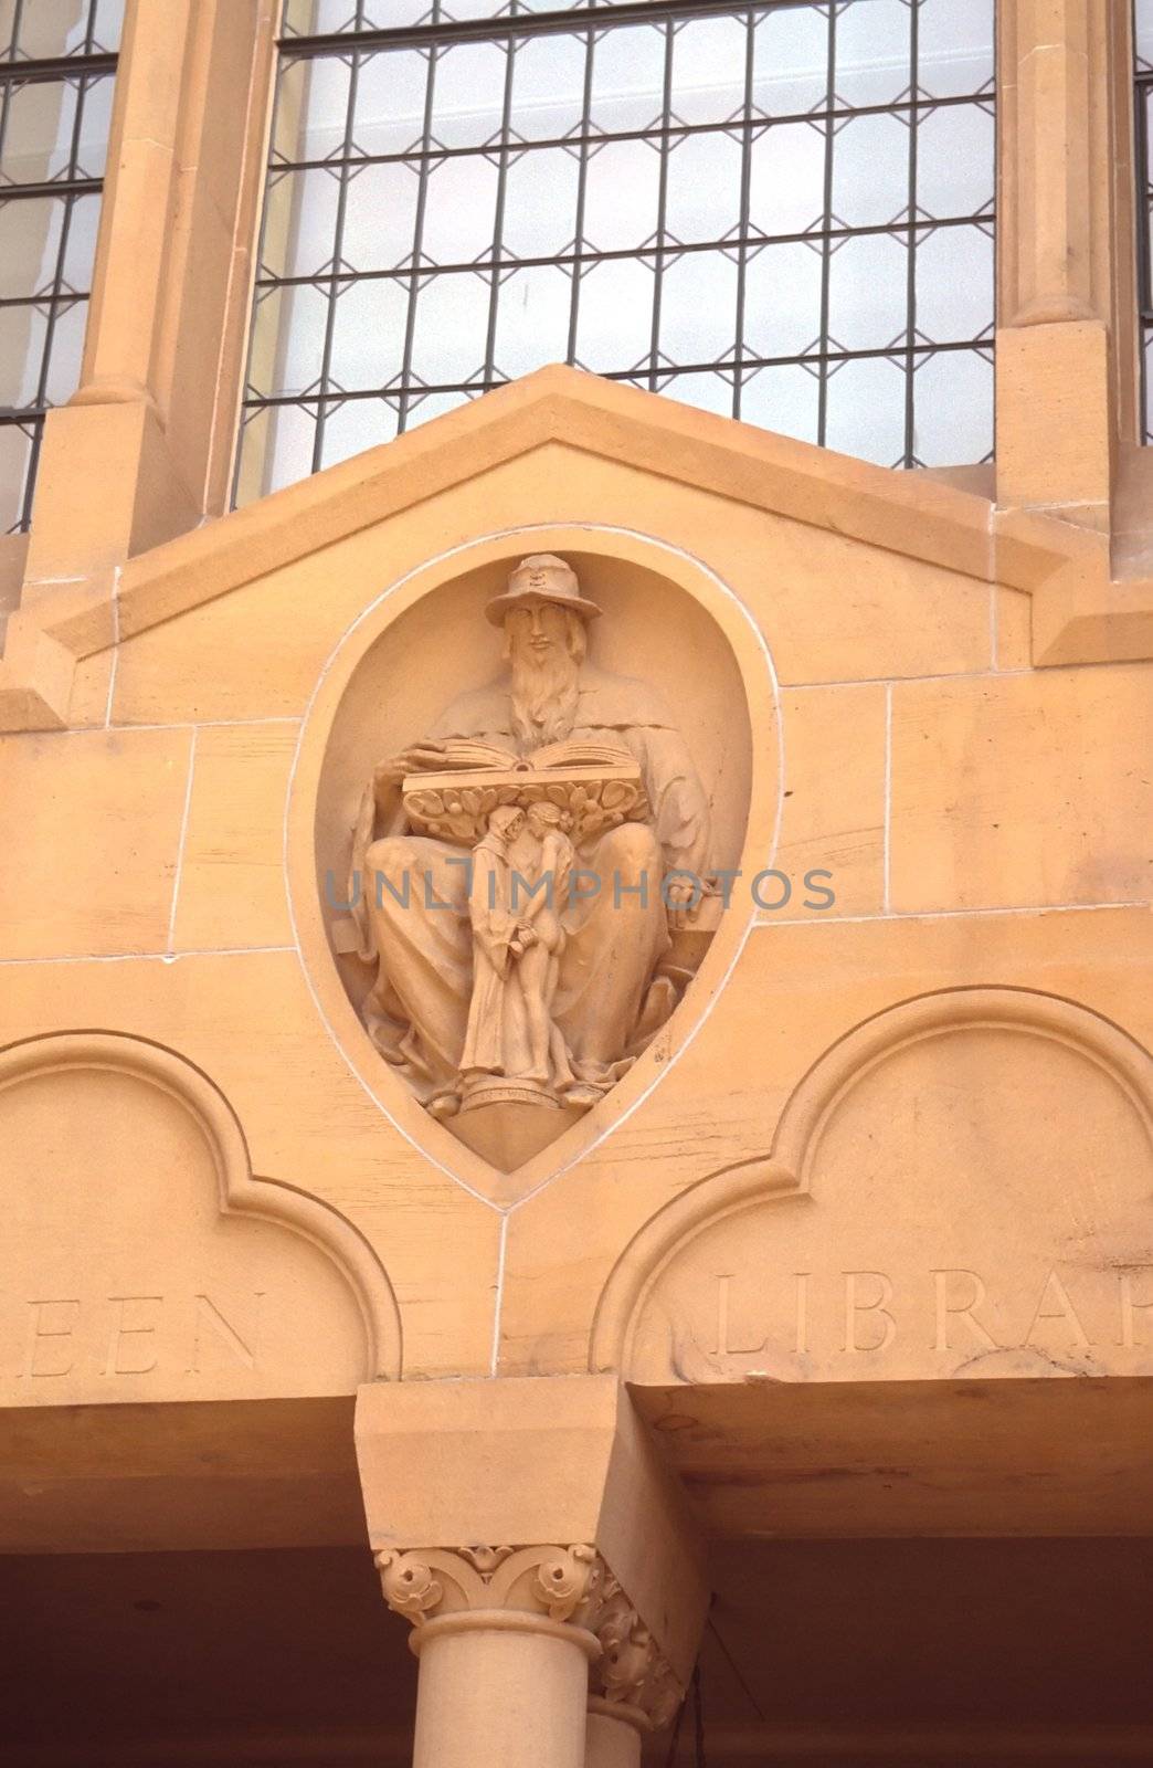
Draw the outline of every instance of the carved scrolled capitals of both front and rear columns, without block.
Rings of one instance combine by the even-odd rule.
[[[393,1614],[421,1632],[529,1623],[564,1627],[585,1650],[589,1697],[638,1731],[667,1726],[684,1699],[668,1662],[619,1579],[591,1545],[386,1547],[373,1556]]]

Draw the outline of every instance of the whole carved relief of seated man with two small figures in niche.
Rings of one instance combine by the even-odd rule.
[[[474,608],[467,656],[488,622],[500,672],[414,709],[391,751],[357,732],[347,912],[329,905],[329,928],[384,1068],[508,1169],[668,1022],[718,925],[732,833],[714,836],[725,744],[702,769],[660,688],[596,661],[612,610],[564,559],[522,559]],[[714,716],[739,727],[732,693]],[[741,757],[729,801],[746,774]]]

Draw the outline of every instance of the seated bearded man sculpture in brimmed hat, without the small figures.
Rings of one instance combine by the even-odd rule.
[[[352,842],[357,956],[377,967],[361,1015],[380,1054],[437,1117],[500,1096],[578,1109],[596,1103],[679,999],[688,976],[670,962],[670,925],[695,912],[700,886],[693,880],[706,880],[709,866],[709,808],[688,748],[645,682],[608,675],[587,659],[589,624],[601,610],[580,592],[575,571],[552,555],[525,559],[506,594],[485,612],[504,628],[508,674],[462,695],[423,741],[377,766]],[[536,801],[546,794],[555,804],[566,790],[575,794],[571,804],[585,806],[589,794],[596,797],[598,762],[628,764],[601,766],[601,774],[631,773],[635,781],[630,789],[626,780],[615,797],[603,792],[605,803],[624,803],[624,812],[598,812],[584,820],[576,815],[573,826],[580,888],[573,884],[555,903],[562,939],[554,941],[557,971],[550,988],[552,1024],[562,1040],[562,1089],[541,1084],[536,1068],[525,1068],[523,1078],[486,1073],[486,1091],[474,1098],[474,1071],[462,1073],[465,1041],[476,1043],[481,1008],[477,1002],[470,1015],[470,852],[481,838],[488,850],[492,834],[485,833],[485,804],[477,803],[483,794],[467,789],[431,799],[458,813],[451,827],[414,810],[430,801],[419,790],[421,776],[430,787],[449,776],[460,780],[451,769],[462,755],[481,769],[467,776],[477,785],[502,781],[499,790],[492,787],[490,803],[522,808],[529,808],[532,794]],[[557,767],[557,755],[585,766],[536,771]],[[513,773],[499,773],[493,764],[500,760]],[[531,787],[529,797],[516,781]],[[479,813],[472,836],[465,829],[469,806]],[[518,865],[515,840],[531,842],[534,820],[502,819],[511,866]],[[522,827],[523,836],[516,833]],[[536,850],[539,857],[539,840]],[[527,850],[523,868],[532,877]],[[520,937],[509,926],[513,953],[532,944],[531,921],[525,914]],[[486,978],[486,985],[492,988],[493,979]],[[502,1094],[493,1093],[497,1082]]]

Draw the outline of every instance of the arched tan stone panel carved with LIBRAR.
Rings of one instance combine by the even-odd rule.
[[[1153,1374],[1153,1063],[1070,1001],[905,1001],[767,1158],[654,1216],[591,1365],[642,1383]]]

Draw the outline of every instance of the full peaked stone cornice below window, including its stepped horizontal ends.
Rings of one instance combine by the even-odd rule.
[[[1024,591],[1036,663],[1153,656],[1153,582],[1112,582],[1107,534],[552,366],[129,559],[115,592],[41,594],[9,624],[0,730],[64,727],[76,661],[113,635],[205,606],[548,444]]]

